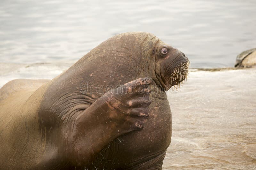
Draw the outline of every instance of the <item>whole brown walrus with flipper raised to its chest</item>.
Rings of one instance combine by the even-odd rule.
[[[52,80],[0,89],[1,169],[161,169],[166,90],[188,58],[151,33],[115,35]]]

